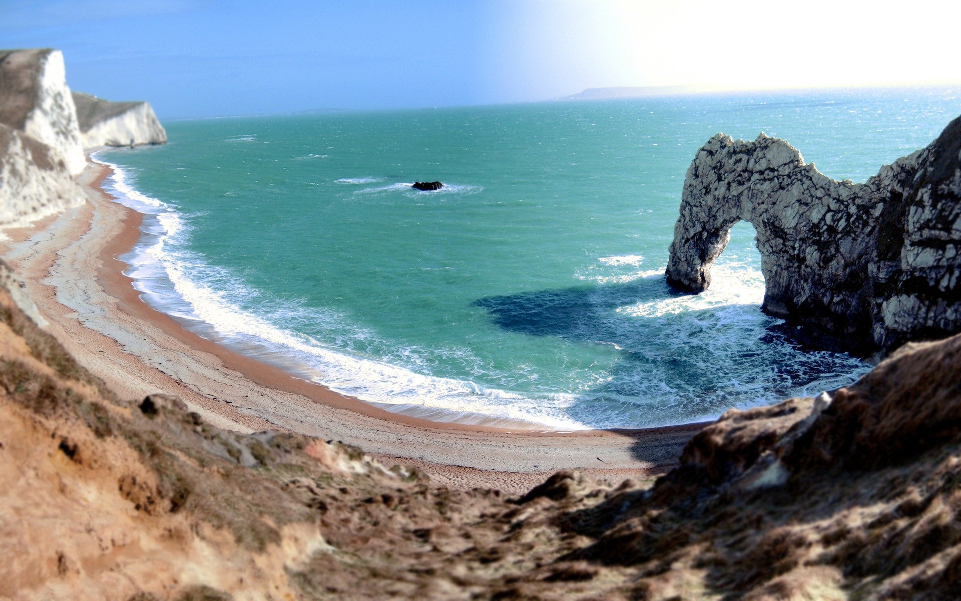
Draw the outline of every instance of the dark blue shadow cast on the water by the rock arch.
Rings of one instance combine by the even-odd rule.
[[[704,422],[731,407],[776,402],[825,374],[850,372],[824,353],[799,355],[756,304],[661,311],[660,303],[684,297],[695,298],[663,277],[647,277],[489,296],[473,305],[510,332],[612,345],[613,363],[567,410],[596,428]],[[631,311],[636,306],[654,310]],[[634,446],[639,459],[650,451]]]

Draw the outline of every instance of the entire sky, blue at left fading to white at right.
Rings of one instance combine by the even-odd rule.
[[[958,23],[955,0],[0,0],[0,47],[177,118],[957,84]]]

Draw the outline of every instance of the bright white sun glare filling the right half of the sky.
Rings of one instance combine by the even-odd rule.
[[[520,7],[520,8],[518,8]],[[956,84],[954,28],[943,2],[526,2],[491,32],[492,79],[520,98],[543,89],[701,89]],[[938,15],[937,18],[932,16]],[[522,88],[523,87],[523,88]]]

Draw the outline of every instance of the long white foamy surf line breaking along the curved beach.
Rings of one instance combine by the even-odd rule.
[[[104,164],[113,169],[111,188],[120,194],[118,202],[141,212],[147,210],[153,217],[149,222],[145,219],[145,235],[133,253],[135,256],[125,259],[132,264],[129,275],[134,277],[145,300],[164,313],[181,317],[188,322],[186,327],[388,410],[438,421],[474,423],[501,419],[554,430],[587,428],[566,414],[579,395],[558,393],[535,399],[473,382],[416,373],[402,366],[333,351],[319,340],[245,311],[234,299],[258,296],[259,290],[245,287],[231,274],[182,249],[183,238],[189,232],[184,215],[126,185],[126,173],[118,165]],[[296,304],[288,304],[278,314],[283,322],[290,313],[305,311],[310,313],[302,316],[305,322],[330,318]],[[357,331],[352,338],[369,336],[372,333]]]

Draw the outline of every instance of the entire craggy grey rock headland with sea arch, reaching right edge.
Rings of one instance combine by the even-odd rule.
[[[718,134],[687,170],[668,282],[700,292],[744,220],[762,309],[801,341],[861,355],[961,331],[961,117],[865,184],[838,182],[786,141]]]

